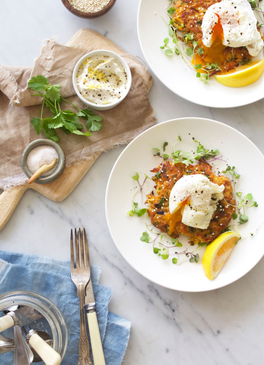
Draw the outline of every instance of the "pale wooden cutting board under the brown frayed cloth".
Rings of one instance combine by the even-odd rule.
[[[97,34],[97,37],[94,37]],[[117,47],[109,39],[100,35],[91,29],[81,29],[67,42],[66,46],[77,46],[82,47],[85,50],[91,47],[93,49],[108,49],[116,53],[125,53],[122,49]],[[134,62],[137,62],[134,60]],[[148,90],[151,87],[152,81],[148,79],[147,73],[142,75],[146,77],[146,85]],[[94,161],[98,158],[98,153],[92,160],[83,160],[77,165],[71,165],[65,169],[63,174],[53,183],[50,184],[24,184],[11,188],[10,190],[4,191],[0,195],[0,230],[2,230],[8,219],[11,217],[13,211],[18,205],[24,192],[27,189],[34,189],[40,194],[46,196],[48,199],[54,201],[62,201],[65,199],[75,188],[75,186],[81,181],[89,168],[93,165]]]

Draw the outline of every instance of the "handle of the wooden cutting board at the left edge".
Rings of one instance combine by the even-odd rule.
[[[3,191],[0,195],[0,231],[7,224],[26,189],[26,184],[19,185],[10,190]]]

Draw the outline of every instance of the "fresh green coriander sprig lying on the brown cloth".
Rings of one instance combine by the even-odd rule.
[[[56,132],[58,128],[66,134],[72,133],[87,137],[92,135],[91,132],[100,130],[102,117],[95,115],[90,109],[80,109],[69,100],[63,99],[59,93],[61,84],[51,85],[46,77],[39,75],[31,77],[28,81],[28,87],[38,92],[32,95],[43,97],[40,118],[34,117],[30,121],[38,135],[43,131],[48,139],[58,142],[59,138]],[[60,104],[62,101],[67,101],[67,103],[78,109],[78,114],[70,110],[61,110]],[[50,109],[52,117],[43,119],[44,104]],[[87,132],[81,131],[83,126],[79,123],[80,117],[86,120]]]

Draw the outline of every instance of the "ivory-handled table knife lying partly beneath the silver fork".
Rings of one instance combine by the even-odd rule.
[[[78,227],[77,231],[79,229],[81,229],[84,239],[87,239],[84,228]],[[88,262],[86,262],[86,265],[90,266],[89,252],[86,254],[88,257]],[[102,348],[102,342],[95,311],[95,299],[94,299],[93,284],[91,279],[89,280],[85,289],[84,307],[87,311],[87,321],[88,321],[90,340],[93,352],[93,363],[94,365],[105,365],[104,351]]]

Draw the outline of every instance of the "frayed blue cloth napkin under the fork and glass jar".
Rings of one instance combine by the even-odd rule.
[[[108,312],[112,290],[98,283],[100,268],[91,265],[96,313],[106,365],[119,365],[127,348],[131,323]],[[11,253],[0,250],[0,294],[12,290],[30,290],[53,301],[65,316],[69,345],[62,365],[77,364],[79,344],[79,298],[71,280],[70,261]],[[88,339],[90,343],[89,331]],[[90,348],[92,357],[92,349]],[[13,363],[13,353],[0,355],[0,365]],[[43,364],[39,363],[39,364]]]

